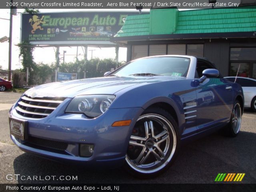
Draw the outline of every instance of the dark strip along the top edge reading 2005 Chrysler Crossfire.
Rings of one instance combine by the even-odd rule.
[[[217,0],[211,3],[209,0],[1,0],[0,8],[35,8],[35,9],[135,9],[142,6],[143,9],[170,8],[178,9],[203,9],[241,6],[240,0]]]

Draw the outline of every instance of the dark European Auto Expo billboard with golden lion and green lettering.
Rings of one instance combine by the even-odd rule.
[[[22,14],[22,37],[31,44],[112,44],[128,15],[138,12]]]

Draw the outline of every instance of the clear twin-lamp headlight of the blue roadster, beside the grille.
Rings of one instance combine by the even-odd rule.
[[[114,101],[114,95],[82,95],[76,96],[68,107],[67,113],[84,113],[88,117],[98,117],[103,114]]]

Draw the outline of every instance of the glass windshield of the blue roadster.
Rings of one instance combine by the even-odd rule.
[[[111,75],[116,76],[180,76],[186,77],[190,64],[189,58],[152,57],[134,60]]]

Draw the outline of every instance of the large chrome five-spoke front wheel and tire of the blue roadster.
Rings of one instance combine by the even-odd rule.
[[[174,118],[161,108],[146,109],[132,130],[124,168],[135,177],[153,178],[170,167],[179,145]]]

